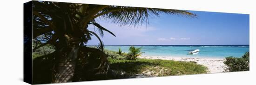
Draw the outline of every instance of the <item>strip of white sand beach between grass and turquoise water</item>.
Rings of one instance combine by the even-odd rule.
[[[208,73],[222,73],[226,65],[225,59],[216,58],[188,58],[188,57],[159,57],[159,56],[139,56],[142,59],[161,59],[174,61],[195,61],[197,64],[208,67]]]

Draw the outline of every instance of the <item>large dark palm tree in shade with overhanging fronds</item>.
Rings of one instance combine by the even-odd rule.
[[[161,13],[196,17],[195,14],[171,9],[141,8],[129,6],[107,6],[62,2],[33,1],[33,39],[41,44],[33,52],[47,44],[53,45],[55,51],[53,83],[72,82],[82,70],[89,74],[108,73],[107,55],[103,52],[103,32],[107,30],[95,21],[95,18],[110,19],[113,23],[139,26],[149,24],[149,16]],[[99,35],[88,28],[94,25]],[[100,42],[98,49],[88,48],[87,42],[96,36]]]

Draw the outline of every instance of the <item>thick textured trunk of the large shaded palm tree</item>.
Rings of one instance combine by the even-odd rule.
[[[68,4],[61,4],[61,11],[63,12],[61,18],[56,19],[55,23],[57,27],[63,28],[56,32],[59,35],[60,48],[57,49],[58,55],[56,55],[57,63],[55,63],[54,80],[53,83],[72,82],[74,77],[78,51],[79,51],[79,37],[75,36],[75,27],[71,21],[68,13]]]

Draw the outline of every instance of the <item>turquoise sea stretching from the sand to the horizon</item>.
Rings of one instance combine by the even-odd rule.
[[[130,46],[105,46],[105,49],[128,53]],[[203,58],[225,58],[227,56],[241,57],[249,52],[249,45],[145,45],[135,46],[142,48],[142,55],[173,56],[173,57],[203,57]],[[199,54],[187,55],[189,51],[200,49]]]

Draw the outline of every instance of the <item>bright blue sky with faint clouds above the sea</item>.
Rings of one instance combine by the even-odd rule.
[[[198,18],[160,14],[150,17],[149,25],[119,26],[111,20],[97,19],[101,26],[115,36],[104,32],[105,45],[233,45],[249,44],[249,14],[199,12]],[[89,30],[94,30],[89,26]],[[97,32],[98,33],[98,32]],[[95,36],[88,45],[97,45]]]

